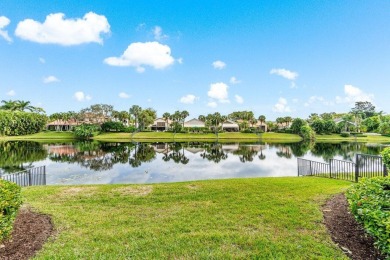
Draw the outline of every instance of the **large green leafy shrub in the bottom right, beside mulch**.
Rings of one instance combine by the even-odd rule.
[[[390,256],[390,177],[362,179],[346,193],[352,213],[375,246]]]

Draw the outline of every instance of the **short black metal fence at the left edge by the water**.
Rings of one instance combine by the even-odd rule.
[[[35,167],[21,172],[3,174],[3,180],[15,182],[19,186],[46,185],[46,166]]]

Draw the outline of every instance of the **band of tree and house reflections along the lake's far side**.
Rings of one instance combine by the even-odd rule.
[[[0,169],[3,172],[15,172],[33,167],[36,161],[47,156],[54,162],[78,164],[80,167],[94,171],[110,170],[115,164],[129,164],[139,167],[156,159],[157,153],[162,161],[172,161],[177,164],[189,164],[189,153],[198,154],[201,158],[219,163],[230,155],[238,157],[243,163],[255,160],[265,160],[264,149],[276,150],[280,158],[292,159],[303,157],[307,153],[321,157],[325,161],[341,157],[344,160],[354,160],[356,153],[379,154],[381,145],[366,145],[364,143],[311,143],[300,142],[291,144],[263,143],[106,143],[106,142],[76,142],[74,144],[42,145],[36,142],[16,141],[0,143]],[[268,158],[267,158],[268,159]]]

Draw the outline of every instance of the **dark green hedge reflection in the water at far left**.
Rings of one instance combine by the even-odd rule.
[[[0,173],[12,173],[34,167],[44,160],[47,151],[43,145],[31,141],[0,142]]]

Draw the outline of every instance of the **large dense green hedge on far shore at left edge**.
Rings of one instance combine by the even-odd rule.
[[[0,135],[18,136],[42,131],[46,115],[31,112],[0,110]]]

